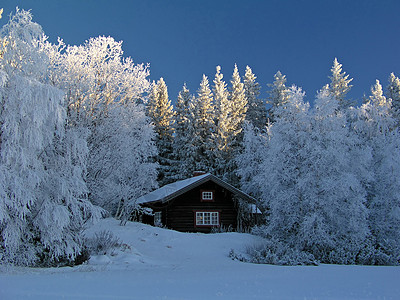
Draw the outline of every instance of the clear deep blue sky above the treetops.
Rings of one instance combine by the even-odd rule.
[[[184,82],[192,93],[202,74],[221,65],[229,81],[234,64],[249,65],[266,97],[280,70],[303,87],[306,100],[329,82],[335,57],[354,78],[349,96],[369,94],[391,72],[400,76],[398,0],[2,0],[0,25],[18,6],[31,9],[51,41],[82,44],[110,35],[126,56],[150,63],[151,80],[163,77],[171,100]]]

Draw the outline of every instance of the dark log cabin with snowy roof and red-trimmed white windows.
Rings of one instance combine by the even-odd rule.
[[[247,226],[250,215],[261,213],[253,211],[251,196],[209,173],[165,185],[137,203],[154,213],[143,216],[143,222],[182,232],[236,231]]]

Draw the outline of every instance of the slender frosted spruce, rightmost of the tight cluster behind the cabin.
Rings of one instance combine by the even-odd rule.
[[[257,77],[253,74],[251,68],[246,66],[246,72],[243,77],[244,93],[247,99],[246,120],[257,128],[267,126],[267,109],[264,101],[260,98],[260,86],[256,82]]]

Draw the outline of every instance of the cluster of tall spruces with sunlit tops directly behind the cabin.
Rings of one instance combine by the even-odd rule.
[[[228,88],[217,66],[212,87],[205,75],[197,96],[184,85],[174,108],[163,78],[153,82],[147,115],[156,132],[161,185],[190,177],[196,170],[238,184],[235,157],[242,149],[244,124],[265,126],[267,111],[250,67],[242,82],[235,65],[230,83]]]

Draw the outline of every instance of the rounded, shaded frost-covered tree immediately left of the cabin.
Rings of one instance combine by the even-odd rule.
[[[143,105],[127,103],[111,110],[98,132],[89,158],[88,172],[95,174],[89,188],[94,203],[120,218],[126,203],[138,208],[134,200],[158,187],[153,126]]]

